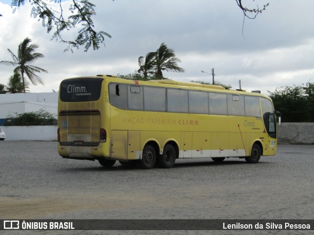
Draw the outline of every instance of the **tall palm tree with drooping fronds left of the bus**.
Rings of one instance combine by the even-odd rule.
[[[41,53],[35,52],[38,48],[36,44],[30,44],[31,40],[26,38],[20,43],[18,48],[18,55],[16,56],[10,49],[8,49],[9,53],[11,54],[14,62],[12,61],[0,61],[0,64],[3,65],[13,65],[17,66],[14,69],[14,73],[20,73],[23,80],[23,91],[25,93],[25,77],[24,74],[28,77],[32,84],[37,85],[37,82],[44,85],[44,81],[37,76],[36,72],[48,72],[42,68],[29,65],[30,63],[38,60],[39,58],[45,57]]]

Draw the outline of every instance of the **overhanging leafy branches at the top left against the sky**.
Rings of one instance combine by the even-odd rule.
[[[60,40],[67,44],[66,50],[84,47],[88,51],[90,47],[94,50],[99,49],[101,44],[105,46],[105,37],[111,38],[111,35],[104,31],[95,31],[92,17],[96,15],[95,4],[89,0],[70,0],[69,17],[65,17],[62,8],[62,0],[12,0],[13,13],[26,2],[32,5],[30,16],[41,21],[43,27],[47,28],[47,33],[52,31],[52,40]],[[56,4],[52,4],[56,3]],[[56,9],[56,5],[58,9]],[[53,6],[53,7],[52,7]],[[76,39],[67,40],[63,33],[78,27]]]

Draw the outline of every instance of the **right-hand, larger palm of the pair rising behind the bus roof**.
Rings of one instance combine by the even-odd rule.
[[[184,69],[178,66],[178,62],[181,60],[176,57],[174,50],[162,43],[156,51],[155,76],[163,78],[162,71],[184,72]]]

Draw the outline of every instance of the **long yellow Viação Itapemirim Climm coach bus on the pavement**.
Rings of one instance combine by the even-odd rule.
[[[59,89],[58,153],[105,167],[170,168],[181,158],[257,163],[276,154],[279,116],[268,96],[221,86],[69,78]]]

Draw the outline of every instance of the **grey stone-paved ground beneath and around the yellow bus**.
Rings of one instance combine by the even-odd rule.
[[[142,170],[62,159],[56,142],[0,141],[0,218],[5,219],[313,219],[313,181],[314,145],[279,145],[276,156],[258,164],[193,159],[178,160],[171,169]],[[88,233],[131,234],[109,232]],[[252,234],[237,232],[232,234]],[[184,234],[195,233],[208,234]]]

